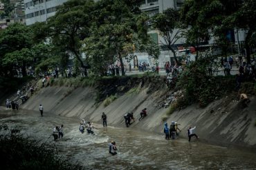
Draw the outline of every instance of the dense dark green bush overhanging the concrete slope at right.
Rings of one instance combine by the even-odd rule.
[[[188,65],[179,76],[176,88],[184,90],[183,103],[198,102],[201,107],[205,107],[216,98],[235,89],[233,76],[208,76],[207,65],[207,59],[199,59]]]

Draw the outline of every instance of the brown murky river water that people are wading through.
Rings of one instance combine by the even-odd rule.
[[[80,120],[39,113],[3,115],[0,124],[43,142],[55,143],[73,161],[86,169],[256,169],[256,153],[229,149],[187,139],[165,140],[164,135],[129,128],[95,125],[95,136],[81,134]],[[64,125],[64,138],[53,142],[56,125]],[[111,156],[108,146],[115,140],[118,155]]]

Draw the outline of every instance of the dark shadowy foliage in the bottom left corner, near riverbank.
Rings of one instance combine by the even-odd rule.
[[[79,164],[72,164],[58,155],[53,145],[17,133],[0,136],[0,157],[1,169],[82,169]]]

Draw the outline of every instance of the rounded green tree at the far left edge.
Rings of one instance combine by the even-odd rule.
[[[14,68],[21,67],[26,76],[26,65],[30,61],[33,31],[26,25],[15,23],[0,32],[0,75],[13,76]],[[28,52],[26,54],[26,52]],[[24,55],[24,56],[22,56]],[[28,57],[28,59],[26,59]]]

